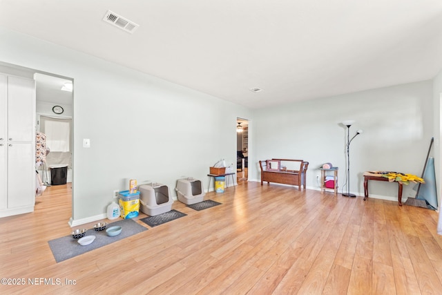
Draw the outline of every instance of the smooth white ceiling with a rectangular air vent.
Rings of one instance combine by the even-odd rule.
[[[0,0],[0,26],[251,108],[442,68],[441,0]]]

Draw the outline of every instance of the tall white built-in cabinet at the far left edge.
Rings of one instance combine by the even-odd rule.
[[[0,217],[34,211],[35,80],[0,73]]]

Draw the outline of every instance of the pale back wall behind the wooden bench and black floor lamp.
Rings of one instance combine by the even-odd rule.
[[[318,167],[339,167],[339,192],[345,183],[346,127],[350,136],[350,191],[363,196],[364,171],[398,171],[421,175],[433,133],[432,82],[416,82],[359,93],[325,97],[256,111],[256,159],[294,158],[309,161],[307,187],[318,188]],[[259,179],[255,173],[252,178]],[[413,185],[403,198],[415,196]],[[369,185],[370,196],[397,200],[397,185]]]

